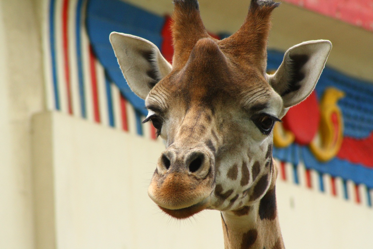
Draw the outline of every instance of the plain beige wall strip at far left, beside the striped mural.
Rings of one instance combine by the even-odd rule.
[[[34,248],[31,115],[43,109],[36,1],[0,1],[0,248]]]

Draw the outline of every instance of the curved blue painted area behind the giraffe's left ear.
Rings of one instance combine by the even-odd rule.
[[[112,31],[132,34],[162,44],[161,30],[164,18],[153,15],[119,0],[90,0],[87,7],[87,31],[94,52],[105,67],[110,79],[142,115],[147,115],[144,101],[128,87],[117,63],[109,35]]]

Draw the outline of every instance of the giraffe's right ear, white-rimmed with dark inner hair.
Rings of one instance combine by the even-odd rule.
[[[283,99],[284,108],[303,101],[315,88],[323,71],[332,43],[328,40],[303,42],[286,51],[270,85]]]

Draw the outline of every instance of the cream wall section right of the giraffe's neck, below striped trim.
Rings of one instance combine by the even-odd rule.
[[[286,249],[372,248],[371,208],[280,179],[276,194]]]

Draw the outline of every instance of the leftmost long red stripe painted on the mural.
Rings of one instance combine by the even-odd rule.
[[[68,111],[72,114],[71,87],[70,87],[70,65],[69,65],[69,37],[68,37],[68,20],[69,20],[69,0],[64,0],[62,5],[62,44],[63,60],[65,66],[66,93],[68,97]]]

